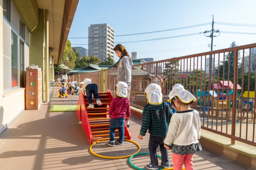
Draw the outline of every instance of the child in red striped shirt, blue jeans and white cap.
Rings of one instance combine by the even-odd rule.
[[[127,98],[126,82],[119,81],[116,84],[116,96],[109,106],[108,115],[111,117],[109,124],[109,146],[115,146],[115,130],[118,128],[119,139],[116,142],[120,145],[124,142],[124,121],[131,116],[130,102]]]

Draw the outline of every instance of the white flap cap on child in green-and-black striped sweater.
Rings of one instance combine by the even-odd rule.
[[[163,103],[163,94],[161,87],[158,84],[152,83],[149,84],[145,89],[146,97],[148,103],[150,104],[161,104]]]

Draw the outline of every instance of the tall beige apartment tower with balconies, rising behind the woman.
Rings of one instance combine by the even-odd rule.
[[[88,27],[88,53],[100,61],[105,61],[108,54],[114,56],[114,29],[108,24],[93,24]]]

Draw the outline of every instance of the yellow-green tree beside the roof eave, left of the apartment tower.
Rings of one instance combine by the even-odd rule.
[[[70,69],[73,69],[75,67],[75,61],[76,61],[76,54],[72,50],[71,42],[67,40],[61,60],[60,60],[60,65],[64,64]]]

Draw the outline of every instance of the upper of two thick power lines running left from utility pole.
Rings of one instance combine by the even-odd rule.
[[[186,28],[192,28],[192,27],[197,27],[197,26],[204,26],[204,25],[210,25],[211,23],[204,23],[204,24],[198,24],[198,25],[190,25],[190,26],[185,26],[185,27],[180,27],[180,28],[172,28],[172,29],[167,29],[167,30],[160,30],[160,31],[151,31],[151,32],[141,32],[141,33],[134,33],[134,34],[123,34],[123,35],[114,35],[111,37],[120,37],[120,36],[129,36],[129,35],[139,35],[139,34],[149,34],[149,33],[156,33],[156,32],[166,32],[166,31],[173,31],[173,30],[180,30],[180,29],[186,29]],[[109,37],[109,36],[104,36]],[[100,36],[100,38],[104,38],[103,36]],[[87,38],[97,38],[97,37],[72,37],[68,39],[87,39]]]

